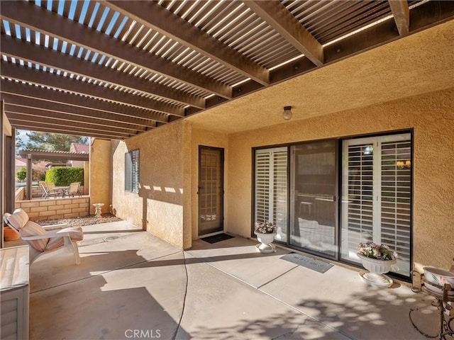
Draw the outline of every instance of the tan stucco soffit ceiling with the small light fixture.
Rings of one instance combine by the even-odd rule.
[[[196,115],[194,126],[235,133],[449,89],[454,79],[454,20],[328,64]]]

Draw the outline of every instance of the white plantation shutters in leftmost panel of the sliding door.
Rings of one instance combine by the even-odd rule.
[[[287,147],[255,153],[255,221],[273,222],[277,239],[287,230]]]

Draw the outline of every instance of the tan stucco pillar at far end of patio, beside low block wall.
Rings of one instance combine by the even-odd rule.
[[[90,215],[94,215],[93,203],[104,203],[102,213],[109,212],[111,205],[112,151],[109,140],[92,140],[89,162]],[[86,179],[84,179],[86,181]],[[87,190],[85,191],[87,193]]]

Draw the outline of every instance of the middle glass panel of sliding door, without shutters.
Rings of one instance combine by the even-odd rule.
[[[336,141],[292,147],[290,244],[336,256]]]

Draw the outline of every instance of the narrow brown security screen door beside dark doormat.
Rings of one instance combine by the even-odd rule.
[[[199,147],[199,236],[223,231],[223,153]]]

